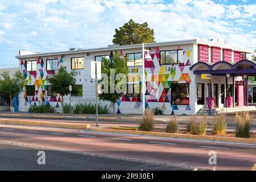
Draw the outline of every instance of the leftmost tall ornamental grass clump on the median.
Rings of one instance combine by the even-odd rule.
[[[140,129],[143,131],[153,131],[154,129],[154,116],[153,111],[150,109],[145,109],[143,117],[140,123]]]

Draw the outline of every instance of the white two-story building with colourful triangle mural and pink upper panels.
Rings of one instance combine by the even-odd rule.
[[[148,43],[145,48],[151,55],[151,59],[144,60],[145,107],[159,107],[164,114],[204,113],[209,94],[214,109],[230,107],[229,90],[233,96],[231,107],[248,106],[247,76],[256,73],[256,64],[246,60],[246,54],[252,50],[200,39]],[[129,55],[128,87],[137,89],[143,64],[141,44],[18,55],[20,70],[26,77],[26,92],[19,96],[19,110],[27,111],[30,105],[39,104],[60,108],[61,97],[54,94],[47,82],[60,65],[76,73],[80,92],[72,95],[71,103],[95,102],[91,61],[101,61],[103,57],[111,60],[115,51],[120,51],[121,57]],[[68,104],[69,97],[64,97],[64,102]],[[100,104],[108,105],[112,111],[109,102]],[[141,94],[127,93],[116,102],[116,113],[141,114],[142,107]]]

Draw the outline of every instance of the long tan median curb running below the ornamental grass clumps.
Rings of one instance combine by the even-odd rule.
[[[132,134],[132,135],[151,136],[151,137],[205,140],[205,141],[212,141],[212,142],[256,144],[256,138],[215,137],[215,136],[201,136],[201,135],[190,135],[190,134],[161,133],[161,132],[153,132],[153,131],[133,131],[133,130],[96,129],[96,128],[91,128],[90,131],[96,131],[96,132],[102,132],[102,133]]]

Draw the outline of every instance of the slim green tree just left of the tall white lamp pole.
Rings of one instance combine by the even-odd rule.
[[[128,61],[128,57],[125,56],[124,59],[122,59],[120,57],[120,53],[117,51],[115,53],[115,55],[113,56],[113,60],[109,60],[109,59],[103,59],[101,61],[101,73],[104,73],[104,75],[106,75],[107,77],[105,78],[101,78],[101,89],[103,89],[102,87],[104,87],[104,92],[99,94],[100,100],[103,101],[109,101],[113,104],[113,115],[115,116],[115,103],[117,100],[119,100],[120,97],[123,96],[124,92],[117,92],[116,89],[114,89],[111,93],[111,89],[117,88],[118,85],[124,85],[127,84],[127,75],[129,73],[128,71],[128,67],[127,67],[127,61]],[[113,69],[114,73],[115,73],[115,85],[111,85],[111,69]],[[125,78],[117,78],[117,76],[119,75],[119,73],[123,73]],[[107,79],[107,80],[105,80]],[[114,83],[112,83],[114,84]],[[107,88],[107,89],[106,89]],[[123,86],[120,86],[121,89],[124,89],[126,92],[126,86],[125,88],[123,88]]]

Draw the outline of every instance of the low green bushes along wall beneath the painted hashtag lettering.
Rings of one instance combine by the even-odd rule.
[[[69,111],[69,105],[68,107],[68,113]],[[64,109],[65,110],[65,109]],[[72,107],[72,113],[74,114],[96,114],[96,104],[76,104],[74,107]],[[108,114],[108,107],[107,105],[101,106],[98,105],[98,113],[99,114]]]

